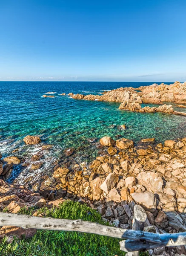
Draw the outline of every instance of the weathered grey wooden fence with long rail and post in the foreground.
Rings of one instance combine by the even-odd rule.
[[[156,234],[142,231],[146,218],[145,210],[139,205],[135,205],[132,230],[126,230],[82,220],[41,218],[0,212],[0,226],[77,231],[125,239],[120,241],[120,250],[128,252],[128,256],[137,256],[140,250],[144,251],[157,247],[186,244],[186,232]]]

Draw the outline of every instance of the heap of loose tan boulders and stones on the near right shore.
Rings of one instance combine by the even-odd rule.
[[[140,204],[147,211],[147,226],[186,231],[186,138],[153,148],[154,141],[145,139],[146,146],[135,148],[132,140],[103,137],[100,144],[108,155],[75,172],[58,167],[57,188],[67,191],[65,199],[85,198],[117,227],[131,228],[134,204]]]

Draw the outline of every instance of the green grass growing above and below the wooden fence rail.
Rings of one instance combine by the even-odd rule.
[[[34,207],[22,208],[20,214],[32,215]],[[101,219],[94,209],[72,201],[65,201],[59,207],[39,209],[46,217],[82,219],[109,225]],[[31,238],[18,240],[11,244],[3,239],[0,244],[0,256],[124,256],[120,251],[120,239],[80,232],[38,230]],[[143,256],[147,254],[143,253]]]

